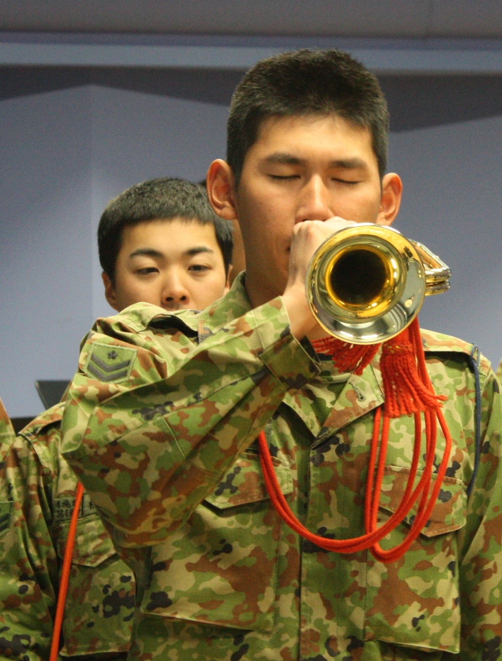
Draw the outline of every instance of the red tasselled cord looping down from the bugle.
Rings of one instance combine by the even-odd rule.
[[[334,354],[333,360],[335,365],[341,371],[350,371],[347,369],[347,366],[354,368],[354,359],[351,358],[347,348],[343,346],[339,350],[340,345],[344,344],[343,342],[330,339],[324,342],[322,347],[319,347],[319,344],[317,344],[315,348],[317,350],[327,350],[328,344],[331,345],[329,349]],[[374,350],[374,347],[371,347],[366,352],[359,351],[356,354],[356,369],[359,373],[372,360],[375,353],[376,350]],[[265,433],[261,432],[258,438],[261,467],[267,491],[269,492],[274,508],[276,508],[278,514],[290,528],[327,551],[355,553],[356,551],[371,549],[376,559],[388,563],[399,559],[409,549],[413,541],[417,539],[421,529],[427,524],[446,473],[452,440],[444,416],[440,410],[440,401],[444,400],[444,397],[438,397],[436,395],[429,374],[427,373],[420,329],[416,319],[409,329],[405,329],[396,338],[384,344],[380,366],[382,369],[386,402],[384,405],[383,424],[381,407],[376,410],[374,419],[364,503],[364,535],[354,537],[353,539],[327,539],[326,537],[315,535],[315,533],[304,527],[296,519],[282,495],[274,472]],[[425,418],[426,459],[423,474],[417,485],[413,487],[421,456],[421,411],[423,411]],[[382,491],[384,467],[386,465],[390,419],[403,414],[413,414],[415,418],[415,442],[411,468],[403,498],[396,512],[390,516],[386,523],[377,527],[378,506],[380,504],[380,493]],[[439,420],[446,442],[439,470],[432,486],[437,445],[437,420]],[[381,433],[380,427],[382,427]],[[380,540],[386,537],[390,531],[394,530],[397,525],[401,524],[417,503],[417,511],[415,512],[413,524],[403,542],[393,549],[384,551],[380,547]]]

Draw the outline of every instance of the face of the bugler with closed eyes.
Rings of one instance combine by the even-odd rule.
[[[284,291],[296,223],[336,215],[388,224],[381,184],[369,130],[332,115],[265,120],[233,194],[247,283],[261,292],[254,303]]]

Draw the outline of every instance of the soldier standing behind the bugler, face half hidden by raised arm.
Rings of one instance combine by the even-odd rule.
[[[198,184],[161,178],[128,188],[103,212],[98,243],[106,299],[117,311],[140,301],[203,309],[228,291],[231,223],[214,214]],[[60,454],[63,407],[1,447],[0,658],[49,656],[77,487]],[[126,658],[134,595],[132,572],[84,494],[60,656]]]

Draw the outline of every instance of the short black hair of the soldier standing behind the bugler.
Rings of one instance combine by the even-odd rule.
[[[98,227],[99,262],[113,284],[124,227],[149,220],[174,218],[214,225],[216,241],[228,274],[233,250],[231,222],[214,213],[203,186],[184,179],[165,177],[127,188],[108,202],[101,215]]]

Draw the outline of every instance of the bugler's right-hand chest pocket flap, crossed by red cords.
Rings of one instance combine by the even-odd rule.
[[[415,485],[419,482],[423,471],[417,471]],[[382,493],[380,494],[381,512],[396,512],[409,477],[409,469],[399,466],[386,466],[384,479],[382,481]],[[436,476],[433,475],[433,483]],[[439,490],[437,502],[431,512],[431,517],[423,529],[421,535],[434,537],[452,530],[458,530],[466,523],[467,495],[464,483],[454,477],[445,477]],[[403,520],[404,524],[413,523],[416,507]]]

